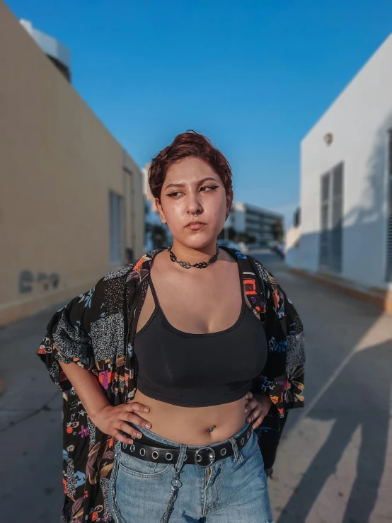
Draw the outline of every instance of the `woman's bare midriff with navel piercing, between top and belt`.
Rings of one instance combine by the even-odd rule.
[[[142,413],[142,417],[151,423],[151,432],[186,445],[224,441],[236,434],[246,422],[245,396],[223,405],[179,407],[137,391],[134,401],[149,407],[149,413]]]

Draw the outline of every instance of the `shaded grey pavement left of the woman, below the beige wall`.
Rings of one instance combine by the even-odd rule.
[[[59,306],[0,330],[1,521],[60,521],[62,393],[35,355]]]

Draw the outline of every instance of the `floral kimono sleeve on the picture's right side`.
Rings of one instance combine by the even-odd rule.
[[[267,362],[253,383],[253,392],[267,394],[279,415],[304,406],[304,338],[299,315],[275,277],[255,262],[265,299]]]

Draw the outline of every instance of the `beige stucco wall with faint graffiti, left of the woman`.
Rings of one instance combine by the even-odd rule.
[[[109,190],[124,198],[124,246],[141,255],[144,205],[139,167],[1,1],[0,71],[4,325],[110,270]],[[34,281],[20,292],[24,270]]]

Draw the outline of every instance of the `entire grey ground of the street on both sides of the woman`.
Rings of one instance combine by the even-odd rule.
[[[391,316],[255,255],[306,332],[306,406],[289,415],[279,447],[275,522],[392,522]],[[62,398],[35,356],[50,314],[0,330],[1,522],[59,523]]]

